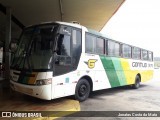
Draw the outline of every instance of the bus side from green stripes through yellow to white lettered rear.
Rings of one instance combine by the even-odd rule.
[[[141,82],[153,78],[153,62],[106,56],[100,59],[111,87],[134,84],[137,74]]]

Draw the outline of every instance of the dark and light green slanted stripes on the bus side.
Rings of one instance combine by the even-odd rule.
[[[125,74],[119,58],[100,56],[111,87],[126,85]]]

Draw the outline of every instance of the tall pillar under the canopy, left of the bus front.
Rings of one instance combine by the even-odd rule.
[[[11,41],[11,8],[6,8],[6,31],[5,31],[5,79],[6,83],[9,85],[9,76],[10,76],[10,52],[9,44]]]

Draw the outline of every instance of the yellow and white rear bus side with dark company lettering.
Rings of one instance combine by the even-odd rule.
[[[153,78],[153,62],[121,58],[121,64],[128,84],[135,83],[137,74],[140,74],[141,82]]]

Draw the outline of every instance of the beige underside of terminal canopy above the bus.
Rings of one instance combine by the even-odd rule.
[[[100,31],[125,0],[0,0],[24,26],[48,21],[77,21]],[[0,29],[4,17],[0,7]]]

